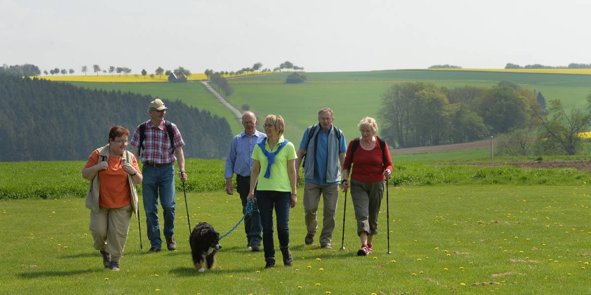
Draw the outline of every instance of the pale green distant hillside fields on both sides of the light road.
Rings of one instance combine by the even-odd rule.
[[[259,117],[269,113],[285,118],[285,137],[296,145],[303,130],[315,123],[320,107],[335,110],[335,125],[346,139],[358,136],[362,117],[377,117],[381,95],[395,83],[426,81],[448,88],[493,86],[513,81],[530,90],[541,91],[546,100],[560,99],[566,108],[584,107],[591,89],[591,75],[496,73],[483,71],[388,70],[366,72],[305,73],[304,84],[285,84],[288,73],[243,77],[230,80],[235,93],[230,103],[237,109],[249,104]],[[81,83],[76,86],[105,90],[132,91],[166,99],[179,99],[190,106],[226,117],[233,133],[242,126],[233,113],[220,104],[200,83]],[[174,112],[174,110],[171,110]],[[378,120],[379,124],[379,120]],[[379,135],[379,133],[378,133]]]

